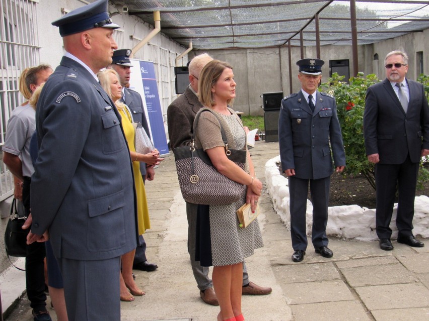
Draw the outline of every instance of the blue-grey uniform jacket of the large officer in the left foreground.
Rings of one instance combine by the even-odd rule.
[[[135,191],[120,115],[97,80],[63,57],[36,111],[31,231],[58,258],[104,260],[136,247]]]

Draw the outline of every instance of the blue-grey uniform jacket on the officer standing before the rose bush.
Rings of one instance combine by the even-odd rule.
[[[344,145],[335,99],[317,92],[316,108],[311,112],[302,91],[281,100],[278,136],[282,170],[295,169],[295,177],[319,179],[345,166]]]

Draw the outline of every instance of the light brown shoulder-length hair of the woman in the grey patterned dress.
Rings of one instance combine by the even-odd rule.
[[[211,108],[215,105],[216,102],[213,99],[211,88],[227,68],[232,69],[232,66],[228,62],[212,60],[201,70],[198,80],[198,98],[204,106]],[[228,99],[227,104],[230,104],[231,101],[232,99]]]

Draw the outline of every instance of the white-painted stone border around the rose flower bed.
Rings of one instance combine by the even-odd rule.
[[[274,157],[265,163],[266,187],[272,199],[274,210],[280,216],[285,226],[290,229],[289,181],[280,175],[277,168],[278,162],[280,162],[280,156]],[[392,223],[390,225],[393,231],[392,238],[396,238],[398,235],[395,225],[397,205],[395,203]],[[310,200],[307,200],[307,235],[311,234],[312,211],[313,205]],[[343,205],[329,207],[328,213],[327,235],[364,241],[378,239],[375,231],[375,209],[358,205]],[[415,198],[413,225],[414,235],[429,238],[429,197],[422,195]]]

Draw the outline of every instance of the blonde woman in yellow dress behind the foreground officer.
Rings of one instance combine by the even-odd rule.
[[[119,82],[119,76],[113,69],[106,69],[98,73],[100,84],[114,101],[116,108],[121,115],[121,125],[125,133],[125,138],[128,143],[130,157],[132,160],[132,168],[134,172],[134,184],[137,196],[137,223],[138,234],[144,234],[145,230],[151,228],[149,220],[149,209],[146,201],[145,185],[140,175],[139,162],[145,162],[148,166],[158,164],[163,158],[159,158],[158,150],[153,150],[148,154],[139,154],[135,152],[134,147],[134,127],[132,125],[132,116],[125,104],[120,102],[122,95],[122,86]],[[121,301],[133,301],[133,295],[144,295],[145,292],[140,290],[132,277],[132,262],[134,260],[135,249],[121,257],[122,273],[120,277],[120,299]],[[128,291],[129,290],[129,291]],[[131,294],[130,294],[131,293]]]

